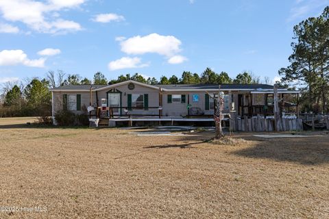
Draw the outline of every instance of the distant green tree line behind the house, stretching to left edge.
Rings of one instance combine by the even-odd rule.
[[[215,73],[210,68],[206,68],[201,75],[184,71],[182,77],[175,75],[167,78],[155,77],[145,78],[139,73],[134,75],[120,75],[117,79],[108,80],[101,72],[95,73],[93,79],[82,78],[78,74],[66,75],[62,70],[54,72],[50,70],[43,79],[33,78],[24,79],[16,83],[5,83],[1,94],[0,117],[9,116],[40,116],[46,120],[51,115],[51,92],[49,89],[65,85],[107,85],[119,83],[127,80],[139,81],[148,84],[223,84],[223,83],[260,83],[260,77],[253,73],[243,72],[234,79],[228,76],[228,73]],[[269,79],[265,78],[265,83]]]

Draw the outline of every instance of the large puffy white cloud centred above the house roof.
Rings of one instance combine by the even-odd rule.
[[[147,36],[134,36],[122,41],[121,51],[130,55],[142,55],[145,53],[158,53],[172,57],[181,51],[182,42],[174,36],[161,36],[149,34]]]

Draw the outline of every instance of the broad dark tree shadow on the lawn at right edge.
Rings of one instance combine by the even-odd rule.
[[[262,140],[255,146],[234,151],[232,154],[303,165],[327,164],[329,163],[329,139],[328,136],[324,136]]]

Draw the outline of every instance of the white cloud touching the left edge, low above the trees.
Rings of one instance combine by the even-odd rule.
[[[38,60],[29,60],[24,51],[18,50],[3,50],[0,51],[0,66],[16,66],[22,64],[29,67],[45,67],[45,58]]]

